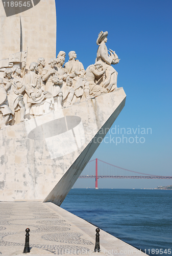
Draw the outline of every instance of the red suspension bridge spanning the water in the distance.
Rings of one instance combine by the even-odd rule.
[[[99,175],[98,175],[99,161]],[[93,172],[95,172],[93,174]],[[136,176],[137,175],[137,176]],[[98,188],[98,179],[172,179],[170,176],[159,176],[153,174],[144,174],[121,168],[119,166],[104,162],[100,159],[93,159],[88,162],[87,166],[79,176],[81,179],[95,179],[95,188]]]

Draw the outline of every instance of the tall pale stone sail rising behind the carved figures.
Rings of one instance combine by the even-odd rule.
[[[21,21],[21,29],[20,29]],[[20,36],[22,30],[22,34]],[[0,2],[0,60],[9,54],[27,50],[27,68],[32,61],[44,57],[45,61],[56,57],[56,6],[54,0],[41,0],[33,8],[6,17]],[[0,72],[0,75],[1,72]]]

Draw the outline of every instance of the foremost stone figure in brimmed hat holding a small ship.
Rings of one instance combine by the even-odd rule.
[[[102,61],[103,68],[107,68],[105,75],[100,79],[97,80],[97,83],[100,84],[102,87],[106,88],[108,92],[112,92],[117,87],[117,72],[111,66],[115,65],[119,62],[119,59],[115,52],[110,50],[111,54],[108,54],[108,49],[106,47],[108,32],[101,31],[97,38],[96,44],[99,45],[97,50],[97,57],[96,61]]]

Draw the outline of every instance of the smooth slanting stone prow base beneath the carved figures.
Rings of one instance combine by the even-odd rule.
[[[1,200],[40,199],[60,205],[125,99],[118,88],[0,130]]]

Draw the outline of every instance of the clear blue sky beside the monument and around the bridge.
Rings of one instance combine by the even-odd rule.
[[[136,172],[172,176],[171,172],[171,0],[57,1],[57,53],[76,51],[86,69],[95,62],[96,39],[108,31],[107,47],[120,58],[117,87],[123,87],[126,105],[112,127],[151,128],[144,143],[105,143],[99,158]],[[107,135],[110,141],[110,134]],[[113,135],[111,138],[122,135]],[[107,139],[107,141],[108,141]],[[143,139],[142,139],[143,140]],[[119,141],[119,139],[118,139]],[[132,141],[132,139],[131,139]],[[94,187],[93,179],[79,179],[73,187]],[[172,180],[100,179],[99,187],[149,188]]]

